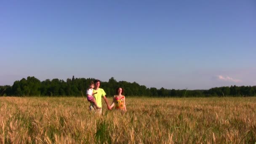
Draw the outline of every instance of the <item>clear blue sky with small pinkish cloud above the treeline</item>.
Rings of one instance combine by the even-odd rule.
[[[1,0],[0,85],[93,77],[256,85],[255,0]]]

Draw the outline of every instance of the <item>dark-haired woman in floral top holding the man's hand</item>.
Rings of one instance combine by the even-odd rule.
[[[116,95],[113,98],[113,102],[110,106],[110,109],[115,106],[115,109],[121,109],[126,112],[125,106],[125,96],[123,96],[123,88],[117,88]]]

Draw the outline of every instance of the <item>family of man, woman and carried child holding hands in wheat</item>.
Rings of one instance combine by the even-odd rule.
[[[125,106],[125,96],[123,96],[123,88],[116,89],[116,95],[113,97],[112,104],[109,106],[106,93],[104,89],[99,88],[100,80],[94,80],[86,90],[87,100],[91,103],[90,110],[91,111],[98,111],[99,113],[102,112],[102,103],[101,97],[103,97],[105,103],[107,104],[107,108],[111,110],[114,106],[115,109],[120,109],[122,112],[126,112]]]

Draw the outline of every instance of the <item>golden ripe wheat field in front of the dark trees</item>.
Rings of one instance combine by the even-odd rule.
[[[111,98],[109,103],[112,102]],[[90,112],[83,98],[0,97],[0,142],[255,143],[256,97],[126,98],[127,112]]]

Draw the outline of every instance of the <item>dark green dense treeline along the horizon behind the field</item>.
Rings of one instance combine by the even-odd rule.
[[[0,96],[82,96],[88,85],[95,79],[75,78],[40,81],[35,77],[17,80],[12,86],[0,86]],[[101,82],[101,88],[107,96],[113,96],[117,87],[125,89],[126,96],[160,96],[160,97],[209,97],[209,96],[256,96],[256,86],[226,86],[209,90],[175,90],[165,88],[147,88],[136,82],[117,82],[113,77],[108,82]]]

